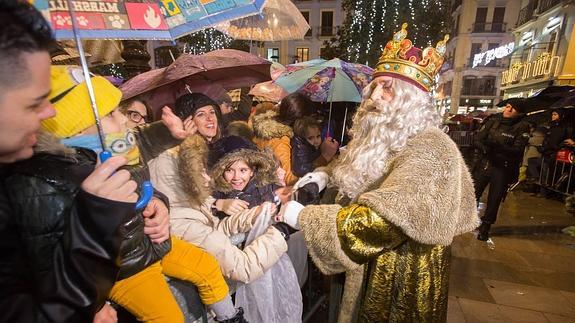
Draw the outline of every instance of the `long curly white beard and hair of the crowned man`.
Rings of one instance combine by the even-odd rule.
[[[370,83],[363,92],[363,102],[353,118],[352,140],[333,169],[331,185],[354,202],[386,177],[391,158],[422,130],[439,125],[428,93],[414,85],[395,79],[394,98],[383,100],[373,95]],[[377,94],[377,93],[375,93]]]

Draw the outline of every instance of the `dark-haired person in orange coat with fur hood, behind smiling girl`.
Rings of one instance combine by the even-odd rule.
[[[291,139],[293,124],[313,113],[313,102],[299,93],[292,93],[282,99],[279,109],[270,110],[253,117],[254,142],[260,149],[269,148],[286,171],[286,185],[291,186],[298,177],[292,172]]]

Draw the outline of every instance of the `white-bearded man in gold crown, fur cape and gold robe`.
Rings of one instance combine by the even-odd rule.
[[[406,27],[363,90],[346,151],[294,186],[330,181],[337,204],[280,211],[322,272],[346,273],[339,322],[445,322],[451,242],[479,224],[471,176],[429,94],[445,41],[421,51]]]

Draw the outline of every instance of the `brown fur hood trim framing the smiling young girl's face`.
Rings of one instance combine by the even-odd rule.
[[[269,150],[239,149],[226,154],[212,167],[210,176],[214,183],[214,189],[219,192],[228,193],[233,191],[231,185],[224,179],[224,172],[229,165],[238,160],[244,160],[248,165],[254,166],[254,177],[251,182],[258,188],[279,184],[276,174],[278,165],[273,153]]]

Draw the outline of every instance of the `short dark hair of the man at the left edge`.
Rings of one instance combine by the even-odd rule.
[[[28,79],[23,53],[50,52],[55,42],[50,24],[27,1],[0,1],[0,87],[16,87]]]

